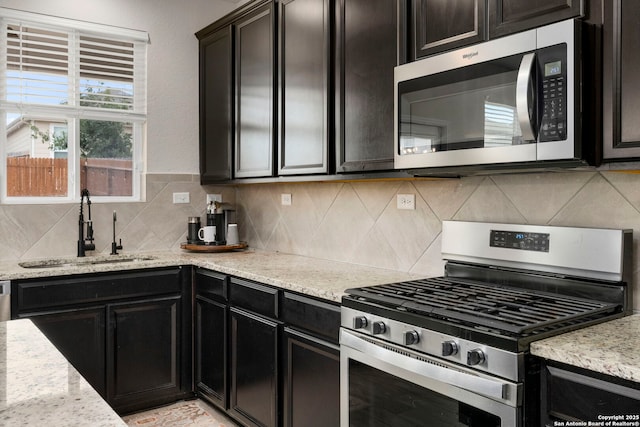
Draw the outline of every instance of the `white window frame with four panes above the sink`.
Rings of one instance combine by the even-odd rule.
[[[134,42],[138,46],[144,46],[144,51],[139,51],[135,55],[135,69],[137,74],[134,77],[134,108],[129,110],[112,110],[86,108],[75,105],[79,95],[77,95],[79,83],[69,84],[70,105],[46,105],[27,104],[19,102],[9,102],[6,97],[5,77],[7,75],[7,27],[6,22],[27,22],[32,25],[44,25],[51,28],[59,28],[63,32],[72,34],[72,37],[82,33],[84,36],[96,35],[98,37],[108,37],[122,39],[127,42]],[[146,122],[147,122],[147,49],[149,35],[145,31],[131,30],[121,27],[114,27],[102,24],[95,24],[84,21],[77,21],[66,18],[52,17],[31,12],[24,12],[15,9],[0,7],[0,203],[1,204],[48,204],[48,203],[71,203],[80,200],[80,179],[79,170],[80,157],[80,120],[111,120],[132,124],[132,195],[131,196],[91,196],[92,201],[98,202],[135,202],[144,198],[144,147],[146,144]],[[70,49],[69,55],[71,63],[72,55],[76,54],[80,48],[78,46]],[[73,52],[72,52],[73,51]],[[69,65],[71,67],[71,65]],[[70,75],[72,80],[77,80],[75,75]],[[6,182],[6,147],[7,147],[7,114],[18,113],[24,116],[48,117],[52,119],[66,120],[68,123],[68,191],[64,197],[9,197],[7,196]]]

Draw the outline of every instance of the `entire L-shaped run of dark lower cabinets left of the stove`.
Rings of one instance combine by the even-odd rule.
[[[339,425],[337,303],[190,267],[18,280],[12,298],[120,414],[195,390],[245,426]]]

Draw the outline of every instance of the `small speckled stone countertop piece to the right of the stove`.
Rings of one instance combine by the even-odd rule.
[[[531,354],[640,382],[640,314],[533,342]]]

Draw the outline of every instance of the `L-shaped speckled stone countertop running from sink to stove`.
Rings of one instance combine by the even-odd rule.
[[[143,257],[153,257],[153,259],[140,260]],[[135,258],[135,260],[113,264],[101,263],[104,260],[131,258]],[[23,268],[18,265],[17,261],[0,262],[0,280],[194,265],[340,302],[345,289],[348,288],[400,282],[421,277],[399,271],[254,249],[222,253],[167,251],[130,254],[125,252],[122,255],[114,256],[97,255],[67,258],[64,261],[86,264],[53,268]],[[91,262],[98,263],[92,264]]]

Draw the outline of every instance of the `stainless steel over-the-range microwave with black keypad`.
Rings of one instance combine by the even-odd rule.
[[[396,67],[395,168],[595,163],[597,138],[583,126],[594,86],[583,75],[583,26],[563,21]]]

